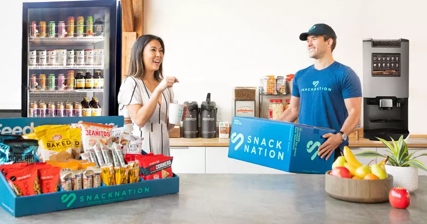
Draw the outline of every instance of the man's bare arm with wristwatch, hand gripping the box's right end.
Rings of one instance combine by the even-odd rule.
[[[348,111],[348,117],[345,119],[344,124],[341,128],[341,132],[347,136],[352,133],[360,122],[361,114],[361,97],[347,98],[344,99],[345,107]],[[328,138],[317,150],[320,158],[326,156],[326,160],[332,155],[332,152],[342,143],[341,134],[324,134],[322,137]]]

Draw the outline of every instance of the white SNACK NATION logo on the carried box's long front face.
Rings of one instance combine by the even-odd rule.
[[[282,141],[274,139],[261,138],[258,136],[245,135],[239,133],[231,134],[231,142],[236,144],[234,150],[241,150],[245,153],[254,154],[261,157],[270,157],[283,160],[285,152],[282,151]]]

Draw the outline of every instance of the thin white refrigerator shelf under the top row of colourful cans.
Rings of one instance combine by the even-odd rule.
[[[32,46],[44,46],[44,45],[87,45],[96,44],[105,41],[105,37],[74,37],[74,38],[58,38],[58,37],[35,37],[28,39]]]

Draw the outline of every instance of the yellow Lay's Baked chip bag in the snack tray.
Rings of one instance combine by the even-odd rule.
[[[46,129],[36,134],[43,161],[71,158],[73,139],[69,125]]]

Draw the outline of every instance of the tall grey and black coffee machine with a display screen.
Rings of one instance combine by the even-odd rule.
[[[408,97],[409,41],[363,40],[363,138],[406,138]]]

